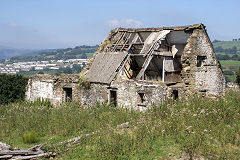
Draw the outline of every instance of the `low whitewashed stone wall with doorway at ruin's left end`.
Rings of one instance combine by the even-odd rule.
[[[26,100],[48,99],[52,104],[66,101],[65,88],[72,89],[72,101],[79,100],[78,75],[35,75],[29,78]]]

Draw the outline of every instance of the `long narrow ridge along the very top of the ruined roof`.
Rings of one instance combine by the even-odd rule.
[[[119,28],[118,31],[120,32],[141,32],[141,31],[161,31],[161,30],[189,30],[189,29],[205,29],[205,26],[200,24],[188,25],[188,26],[175,26],[175,27],[157,27],[157,28]]]

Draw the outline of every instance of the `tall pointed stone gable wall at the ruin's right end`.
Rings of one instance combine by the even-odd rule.
[[[201,67],[197,67],[197,56],[206,56]],[[220,96],[225,93],[225,79],[204,30],[193,30],[181,61],[181,75],[187,94],[200,91],[206,92],[206,95]]]

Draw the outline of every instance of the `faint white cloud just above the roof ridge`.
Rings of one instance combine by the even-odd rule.
[[[142,27],[142,22],[135,19],[112,19],[108,20],[107,24],[113,27]]]

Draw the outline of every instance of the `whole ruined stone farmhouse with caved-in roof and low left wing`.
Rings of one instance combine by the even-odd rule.
[[[86,85],[87,84],[87,85]],[[116,28],[80,75],[30,78],[26,97],[147,108],[168,97],[225,93],[221,66],[203,24]]]

